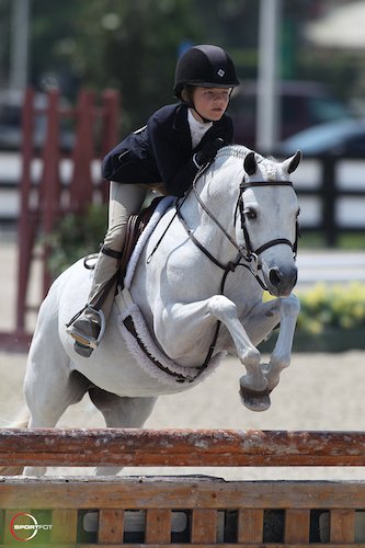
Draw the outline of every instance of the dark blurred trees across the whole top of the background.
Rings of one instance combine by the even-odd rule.
[[[344,53],[329,58],[313,50],[303,33],[306,21],[338,1],[282,0],[282,77],[327,81],[346,98],[358,73],[357,62]],[[11,3],[0,0],[2,85]],[[231,54],[239,77],[254,79],[259,8],[260,0],[32,0],[30,83],[56,84],[70,99],[80,87],[118,89],[125,135],[174,101],[174,67],[184,44],[221,45]]]

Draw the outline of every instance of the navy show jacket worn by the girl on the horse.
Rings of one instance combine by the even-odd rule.
[[[163,182],[169,194],[181,196],[197,172],[193,155],[218,137],[230,145],[232,136],[232,121],[224,114],[193,149],[187,106],[166,105],[152,114],[145,127],[128,135],[106,155],[102,175],[109,181],[129,184]]]

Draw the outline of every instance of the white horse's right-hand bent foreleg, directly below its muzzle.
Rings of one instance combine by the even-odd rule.
[[[270,390],[273,390],[278,384],[281,372],[290,364],[295,326],[300,310],[299,299],[293,294],[289,297],[278,298],[277,300],[280,305],[281,328],[270,363],[264,368]]]

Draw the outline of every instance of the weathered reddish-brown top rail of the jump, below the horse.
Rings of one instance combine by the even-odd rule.
[[[0,466],[365,466],[363,432],[14,429]]]

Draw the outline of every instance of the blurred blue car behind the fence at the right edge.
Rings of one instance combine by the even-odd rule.
[[[365,118],[339,119],[299,132],[283,140],[276,152],[292,155],[347,155],[365,158]]]

